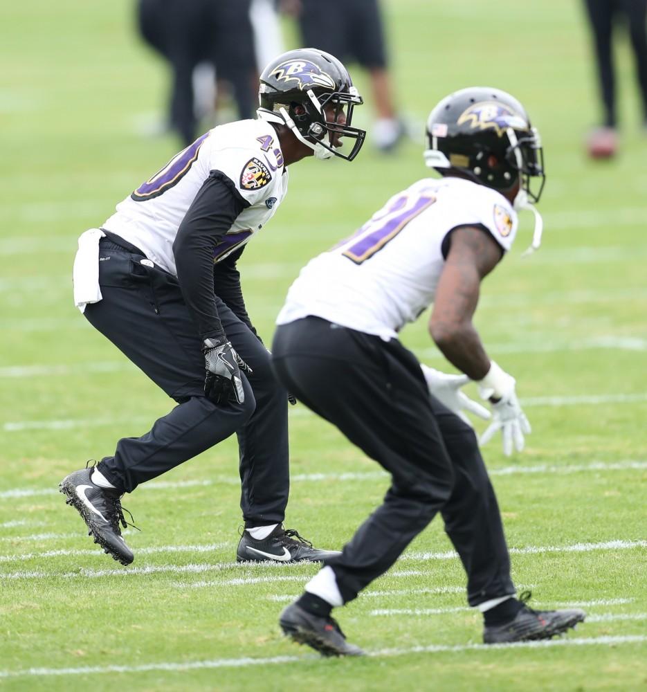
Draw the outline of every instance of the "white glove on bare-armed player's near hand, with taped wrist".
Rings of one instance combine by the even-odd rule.
[[[518,452],[523,450],[524,435],[531,432],[528,419],[519,405],[515,384],[513,376],[501,370],[494,361],[490,363],[488,374],[477,382],[482,399],[498,399],[492,403],[492,422],[481,435],[479,444],[486,444],[501,430],[503,453],[507,457],[512,454],[513,446]]]

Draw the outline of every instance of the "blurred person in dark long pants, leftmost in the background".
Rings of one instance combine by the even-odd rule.
[[[168,127],[184,144],[215,108],[215,75],[230,86],[237,117],[253,116],[259,69],[251,6],[252,0],[138,0],[140,35],[170,65]]]

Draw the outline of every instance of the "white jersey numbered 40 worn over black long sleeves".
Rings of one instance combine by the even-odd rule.
[[[274,128],[263,120],[220,125],[183,149],[117,205],[102,228],[116,233],[176,275],[173,242],[211,171],[224,173],[249,202],[215,248],[219,262],[246,244],[285,197],[288,172]]]

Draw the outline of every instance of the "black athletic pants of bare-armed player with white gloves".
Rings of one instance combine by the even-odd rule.
[[[391,567],[437,512],[468,575],[468,601],[513,594],[500,513],[473,430],[429,396],[399,341],[309,317],[277,328],[286,388],[392,476],[384,502],[327,562],[345,602]]]

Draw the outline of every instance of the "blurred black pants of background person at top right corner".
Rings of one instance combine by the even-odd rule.
[[[617,123],[611,39],[613,21],[619,13],[626,15],[628,22],[643,116],[647,120],[647,0],[585,0],[585,3],[593,30],[605,125],[615,127]]]

